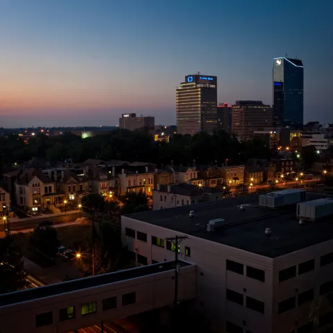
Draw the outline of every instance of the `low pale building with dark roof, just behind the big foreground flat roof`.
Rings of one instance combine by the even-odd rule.
[[[223,194],[210,187],[191,184],[157,184],[153,190],[153,210],[203,203],[204,201],[219,200]]]

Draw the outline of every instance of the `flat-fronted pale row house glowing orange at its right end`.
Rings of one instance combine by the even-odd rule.
[[[128,191],[151,195],[154,189],[154,171],[150,171],[148,167],[145,167],[145,172],[121,169],[118,178],[121,196],[124,196]]]

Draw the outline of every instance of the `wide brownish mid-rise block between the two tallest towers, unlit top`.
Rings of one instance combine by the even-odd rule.
[[[253,139],[256,130],[271,127],[273,112],[262,101],[236,101],[232,105],[232,132],[239,139]]]

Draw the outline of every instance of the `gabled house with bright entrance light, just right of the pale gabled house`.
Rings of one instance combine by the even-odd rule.
[[[89,178],[86,173],[60,171],[59,189],[65,193],[69,203],[79,203],[81,198],[89,194]]]

